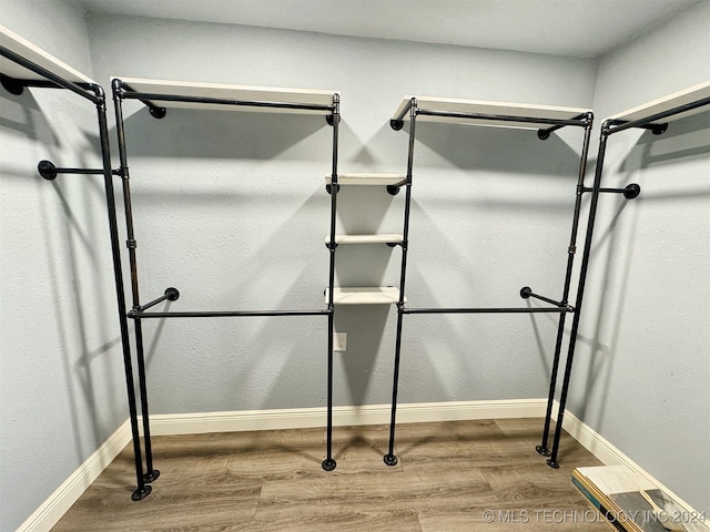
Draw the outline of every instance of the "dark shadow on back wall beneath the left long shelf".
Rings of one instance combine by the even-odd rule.
[[[229,110],[169,109],[164,119],[154,119],[145,108],[130,116],[124,114],[123,123],[129,157],[270,160],[324,127],[331,130],[321,115]],[[115,127],[110,136],[116,137]],[[317,143],[313,150],[290,154],[290,158],[320,160],[323,153],[329,154],[331,149],[324,151]]]

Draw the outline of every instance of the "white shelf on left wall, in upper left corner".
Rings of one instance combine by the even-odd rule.
[[[90,78],[32,44],[27,39],[21,38],[4,25],[0,25],[0,45],[67,81],[97,84]],[[0,57],[0,72],[17,80],[45,80],[45,78],[4,57]]]

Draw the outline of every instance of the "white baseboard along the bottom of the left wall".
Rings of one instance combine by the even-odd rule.
[[[97,451],[82,463],[27,520],[17,532],[45,532],[77,502],[102,471],[131,441],[129,421],[125,420]]]

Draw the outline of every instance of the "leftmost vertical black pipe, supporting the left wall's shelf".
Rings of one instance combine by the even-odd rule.
[[[115,195],[113,191],[113,176],[111,172],[111,153],[109,150],[109,129],[106,125],[106,105],[103,89],[95,86],[100,101],[97,103],[99,115],[99,136],[101,141],[101,154],[103,156],[103,176],[106,194],[106,209],[109,214],[109,232],[111,235],[111,253],[113,256],[113,275],[115,280],[116,301],[119,306],[119,323],[121,327],[121,345],[123,347],[123,367],[125,370],[125,385],[129,396],[129,415],[131,419],[131,434],[133,438],[133,454],[135,458],[135,477],[138,488],[131,495],[134,501],[148,497],[151,487],[145,485],[143,478],[143,460],[141,458],[141,440],[138,428],[138,411],[135,405],[135,386],[133,382],[133,365],[131,361],[131,345],[129,338],[128,317],[125,313],[125,296],[123,291],[123,276],[121,268],[121,252],[119,246],[119,229],[115,214]]]

